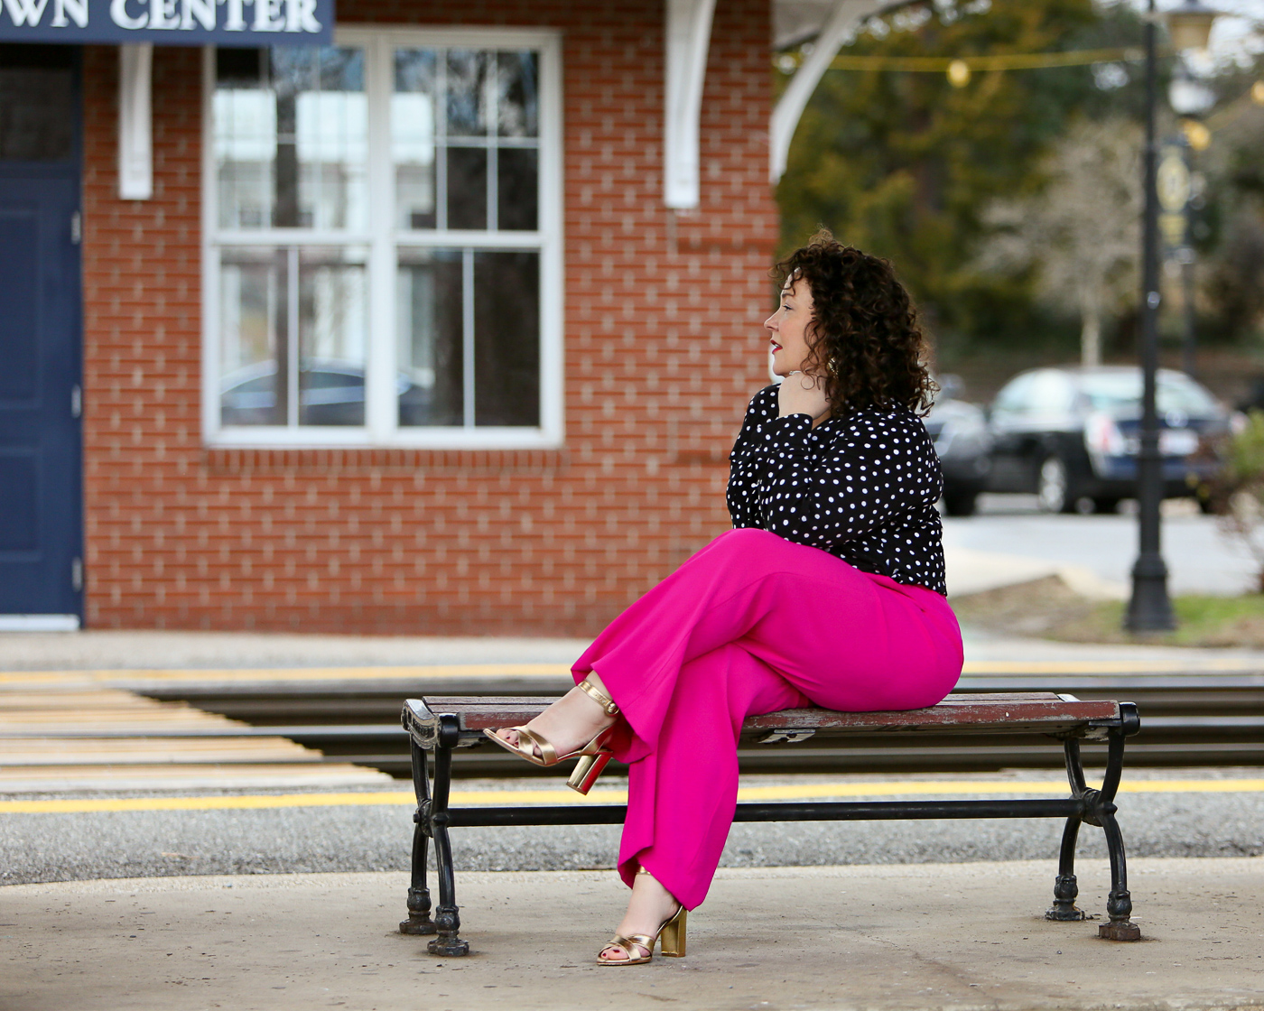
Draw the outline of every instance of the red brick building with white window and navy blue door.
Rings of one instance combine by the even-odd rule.
[[[726,530],[767,382],[772,11],[667,6],[340,0],[330,45],[153,47],[148,112],[119,47],[3,47],[0,78],[77,92],[39,171],[81,200],[47,255],[82,369],[46,360],[64,399],[24,422],[47,447],[48,404],[71,417],[59,456],[0,445],[0,614],[584,634]],[[8,205],[14,278],[34,233]],[[80,466],[81,518],[49,476]]]

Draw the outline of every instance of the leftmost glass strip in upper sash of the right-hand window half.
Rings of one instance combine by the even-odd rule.
[[[391,96],[397,224],[435,227],[435,51],[398,49]]]

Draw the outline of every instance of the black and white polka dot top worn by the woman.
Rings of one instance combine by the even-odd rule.
[[[918,416],[870,407],[815,428],[761,389],[729,457],[734,527],[758,527],[866,572],[947,595],[939,457]]]

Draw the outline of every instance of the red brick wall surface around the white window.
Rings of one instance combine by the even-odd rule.
[[[766,382],[767,0],[718,4],[702,207],[662,206],[659,3],[343,0],[340,20],[564,32],[566,441],[222,450],[200,437],[201,53],[154,53],[154,198],[116,198],[116,64],[85,57],[87,623],[590,634],[728,526]]]

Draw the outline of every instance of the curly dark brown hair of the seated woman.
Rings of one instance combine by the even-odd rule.
[[[930,408],[937,387],[927,366],[927,341],[887,260],[820,229],[777,263],[772,275],[782,286],[804,281],[811,289],[803,370],[825,377],[833,415],[894,404],[916,413]]]

